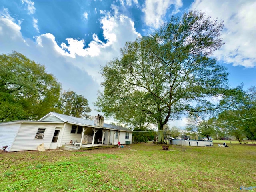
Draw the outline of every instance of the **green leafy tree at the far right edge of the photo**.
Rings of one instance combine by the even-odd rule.
[[[226,122],[219,127],[226,128],[239,141],[241,136],[246,136],[248,140],[256,140],[256,86],[248,90],[243,90],[242,86],[239,86],[236,92],[221,101],[222,106],[229,107],[219,114],[218,121]]]

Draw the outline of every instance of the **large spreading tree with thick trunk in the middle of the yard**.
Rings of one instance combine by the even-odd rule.
[[[129,113],[129,103],[154,120],[158,142],[164,142],[163,126],[169,119],[200,110],[202,105],[206,110],[215,108],[209,98],[228,88],[226,68],[211,57],[223,44],[222,27],[223,22],[190,11],[172,17],[152,35],[127,42],[121,58],[102,67],[104,92],[96,106],[116,117],[122,110]]]

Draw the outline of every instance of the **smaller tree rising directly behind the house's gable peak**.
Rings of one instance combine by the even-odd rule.
[[[88,100],[84,96],[76,94],[74,91],[64,91],[60,96],[56,108],[65,115],[78,118],[90,118],[88,113],[92,111],[89,107]]]

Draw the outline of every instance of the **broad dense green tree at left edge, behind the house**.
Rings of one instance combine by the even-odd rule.
[[[54,110],[60,83],[45,66],[13,52],[0,55],[0,122],[35,120]]]

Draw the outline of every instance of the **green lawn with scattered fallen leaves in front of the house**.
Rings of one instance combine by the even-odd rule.
[[[228,143],[228,142],[227,142]],[[151,143],[87,151],[0,153],[4,192],[240,191],[256,186],[256,145]],[[256,188],[247,191],[255,191]]]

